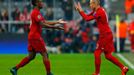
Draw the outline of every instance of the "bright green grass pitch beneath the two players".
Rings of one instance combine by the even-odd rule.
[[[0,75],[11,75],[9,69],[24,56],[0,55]],[[93,54],[50,54],[50,60],[54,75],[91,75],[94,72]],[[45,75],[42,57],[37,55],[35,60],[18,71],[18,75]],[[102,55],[101,75],[121,75],[121,71]],[[130,69],[127,75],[134,75],[134,70]]]

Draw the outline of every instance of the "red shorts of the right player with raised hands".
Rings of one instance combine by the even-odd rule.
[[[112,53],[115,51],[112,33],[100,36],[96,50],[102,50],[104,53]]]

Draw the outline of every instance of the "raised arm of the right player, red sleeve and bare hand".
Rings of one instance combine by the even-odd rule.
[[[80,2],[74,3],[74,6],[75,6],[76,10],[80,13],[80,15],[83,17],[84,20],[90,21],[90,20],[94,19],[94,16],[92,15],[92,13],[90,15],[87,15],[84,13]]]

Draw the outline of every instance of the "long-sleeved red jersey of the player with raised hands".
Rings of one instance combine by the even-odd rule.
[[[102,7],[98,8],[96,12],[91,12],[89,15],[86,15],[83,11],[80,12],[80,14],[86,21],[90,21],[93,19],[96,20],[100,36],[103,36],[109,32],[111,33],[111,29],[108,24],[107,14]]]

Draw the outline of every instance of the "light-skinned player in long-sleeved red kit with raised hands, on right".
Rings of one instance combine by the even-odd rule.
[[[113,36],[108,24],[106,11],[100,6],[99,0],[90,0],[90,7],[93,10],[89,15],[86,15],[82,10],[80,3],[75,3],[76,10],[86,21],[95,19],[99,28],[100,36],[97,42],[97,47],[94,52],[95,56],[95,73],[100,75],[101,53],[105,54],[106,59],[117,65],[121,69],[122,75],[126,75],[128,67],[124,66],[116,57],[112,55],[114,51]]]

